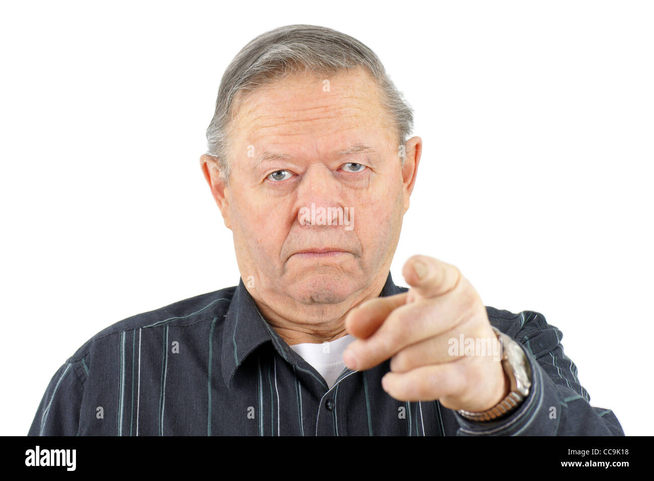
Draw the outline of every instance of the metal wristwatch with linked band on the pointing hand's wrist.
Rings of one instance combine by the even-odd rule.
[[[511,391],[495,406],[483,412],[458,410],[458,414],[471,421],[494,421],[504,418],[529,395],[532,372],[525,351],[510,336],[491,326],[502,343],[502,368],[511,382]]]

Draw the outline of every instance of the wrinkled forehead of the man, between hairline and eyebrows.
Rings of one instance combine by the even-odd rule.
[[[363,69],[293,73],[235,98],[234,137],[253,145],[332,143],[371,132],[384,137],[392,122],[379,95]]]

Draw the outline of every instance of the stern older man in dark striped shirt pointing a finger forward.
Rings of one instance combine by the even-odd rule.
[[[394,284],[412,123],[356,39],[293,25],[252,40],[200,158],[239,284],[99,332],[29,435],[623,435],[541,313],[484,306],[422,255]]]

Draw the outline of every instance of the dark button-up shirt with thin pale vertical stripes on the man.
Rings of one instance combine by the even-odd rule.
[[[381,296],[405,291],[389,273]],[[29,435],[624,435],[611,410],[589,404],[559,329],[538,312],[486,309],[533,372],[528,397],[498,421],[393,399],[381,387],[390,360],[346,368],[328,389],[264,320],[241,279],[96,334],[52,377]]]

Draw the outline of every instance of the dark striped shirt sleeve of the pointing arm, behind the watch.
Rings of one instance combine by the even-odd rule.
[[[532,386],[515,412],[498,421],[470,421],[455,411],[457,436],[624,436],[613,414],[591,406],[577,366],[563,353],[562,332],[541,313],[525,311],[517,334],[532,369]],[[525,320],[526,319],[526,320]],[[504,327],[504,329],[502,329]],[[511,335],[511,328],[498,325]]]

